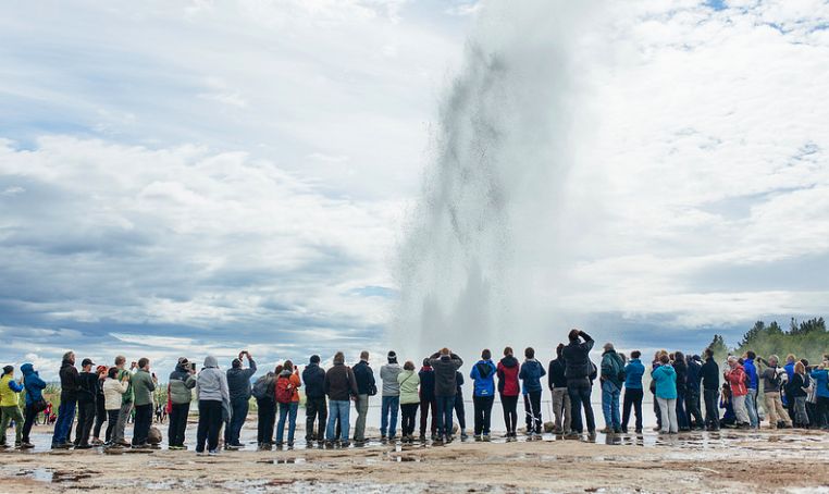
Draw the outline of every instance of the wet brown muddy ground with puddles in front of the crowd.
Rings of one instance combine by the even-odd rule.
[[[829,434],[688,433],[273,452],[0,454],[0,492],[829,493]]]

